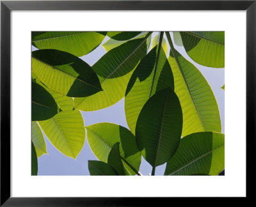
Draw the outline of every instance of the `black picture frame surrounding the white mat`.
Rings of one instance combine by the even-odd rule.
[[[156,197],[10,197],[10,12],[12,10],[246,10],[246,199],[255,163],[256,0],[250,1],[1,1],[1,206],[150,206]],[[236,182],[236,181],[234,181]],[[252,189],[252,190],[251,190]],[[191,199],[191,198],[190,198]]]

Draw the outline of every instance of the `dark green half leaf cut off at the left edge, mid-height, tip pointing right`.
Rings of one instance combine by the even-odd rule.
[[[41,121],[52,118],[58,113],[58,106],[42,86],[32,82],[32,121]]]

